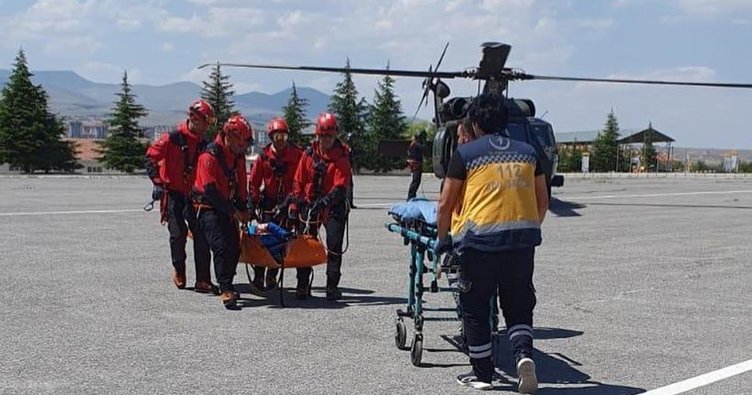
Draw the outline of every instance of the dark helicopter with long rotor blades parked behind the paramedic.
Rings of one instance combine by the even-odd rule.
[[[649,84],[649,85],[678,85],[678,86],[697,86],[697,87],[716,87],[716,88],[752,88],[752,84],[740,83],[714,83],[714,82],[688,82],[688,81],[657,81],[657,80],[635,80],[635,79],[615,79],[615,78],[585,78],[585,77],[562,77],[562,76],[545,76],[528,74],[520,69],[505,67],[507,58],[512,46],[500,42],[486,42],[481,44],[482,57],[480,64],[476,68],[470,68],[463,71],[439,71],[441,62],[444,59],[449,43],[444,46],[444,50],[436,63],[436,67],[429,66],[427,71],[419,70],[394,70],[394,69],[366,69],[366,68],[341,68],[341,67],[317,67],[317,66],[284,66],[284,65],[267,65],[267,64],[245,64],[245,63],[222,63],[220,66],[226,67],[243,67],[255,69],[275,69],[275,70],[294,70],[294,71],[316,71],[328,73],[346,73],[363,74],[363,75],[389,75],[392,77],[412,77],[423,78],[423,95],[418,104],[418,109],[423,106],[429,95],[433,94],[434,118],[433,123],[436,125],[436,134],[432,145],[433,173],[438,178],[446,176],[449,159],[457,146],[457,127],[467,116],[468,110],[473,104],[476,96],[471,97],[452,97],[449,86],[442,81],[443,79],[465,78],[484,81],[482,89],[478,94],[490,93],[495,94],[504,100],[504,105],[508,109],[509,119],[507,123],[507,133],[510,138],[530,144],[537,152],[541,160],[544,174],[547,179],[549,195],[551,187],[560,187],[564,185],[564,177],[556,174],[558,165],[558,150],[556,138],[554,136],[553,126],[535,115],[535,103],[531,99],[511,98],[508,97],[508,85],[510,81],[571,81],[571,82],[598,82],[598,83],[618,83],[618,84]],[[198,68],[204,68],[210,64],[204,64]],[[417,112],[416,112],[417,115]]]

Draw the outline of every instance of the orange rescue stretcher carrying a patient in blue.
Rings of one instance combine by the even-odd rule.
[[[310,235],[310,213],[300,234],[292,233],[275,222],[249,223],[240,230],[240,259],[251,283],[250,265],[280,269],[279,303],[285,307],[284,276],[290,268],[313,267],[326,263],[326,248],[317,236]],[[313,273],[312,273],[313,274]],[[313,282],[313,276],[310,279]]]

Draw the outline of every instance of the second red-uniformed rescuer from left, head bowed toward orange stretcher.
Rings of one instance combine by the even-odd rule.
[[[198,225],[214,255],[220,299],[228,309],[236,307],[239,296],[232,280],[240,259],[238,225],[249,219],[245,152],[252,143],[248,121],[240,115],[230,117],[199,156],[193,184]]]

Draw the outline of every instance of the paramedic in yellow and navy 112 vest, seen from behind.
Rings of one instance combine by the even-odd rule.
[[[476,139],[458,146],[452,155],[438,207],[437,252],[459,254],[469,281],[460,303],[473,371],[457,381],[477,389],[492,388],[488,301],[498,287],[518,391],[534,393],[538,382],[532,360],[533,257],[548,208],[546,180],[535,149],[506,134],[502,98],[479,96],[469,117]],[[462,208],[452,221],[458,203]]]

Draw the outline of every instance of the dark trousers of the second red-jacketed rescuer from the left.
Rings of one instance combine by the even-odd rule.
[[[240,259],[238,224],[229,215],[212,209],[199,209],[198,222],[214,256],[214,276],[220,292],[234,291],[232,280]]]

